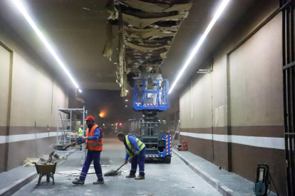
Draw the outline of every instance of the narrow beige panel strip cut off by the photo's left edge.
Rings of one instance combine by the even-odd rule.
[[[0,126],[7,126],[11,53],[0,45]]]

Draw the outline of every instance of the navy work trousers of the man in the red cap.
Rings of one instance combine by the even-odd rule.
[[[85,180],[92,160],[93,160],[93,166],[94,166],[96,176],[98,177],[98,180],[103,180],[103,171],[101,170],[101,165],[100,165],[100,153],[101,151],[88,150],[86,160],[83,165],[82,172],[80,174],[80,180]]]

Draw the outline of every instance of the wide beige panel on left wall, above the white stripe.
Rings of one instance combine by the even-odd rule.
[[[51,118],[52,77],[14,54],[11,126],[46,126]]]

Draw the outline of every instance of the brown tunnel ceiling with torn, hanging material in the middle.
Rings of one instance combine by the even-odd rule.
[[[21,1],[27,5],[30,16],[45,33],[48,42],[53,45],[82,90],[125,89],[128,87],[128,78],[138,73],[139,65],[161,66],[162,77],[170,80],[171,84],[221,2]],[[177,83],[175,92],[207,60],[208,55],[212,55],[214,48],[237,25],[237,21],[256,4],[258,3],[254,0],[229,2],[227,11],[207,36],[202,50],[192,59],[191,65]],[[267,3],[262,0],[259,4]],[[188,11],[190,14],[187,16]],[[0,26],[2,22],[6,23],[5,28],[9,26],[15,32],[14,38],[19,36],[18,39],[25,43],[24,48],[31,48],[27,51],[33,51],[34,55],[37,54],[45,62],[43,65],[53,69],[56,79],[61,80],[68,88],[73,88],[71,80],[11,0],[0,1]],[[125,91],[122,92],[124,96]],[[172,96],[174,95],[170,95],[170,100]]]

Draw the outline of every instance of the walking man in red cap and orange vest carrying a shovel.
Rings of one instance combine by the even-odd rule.
[[[100,165],[100,153],[103,151],[103,129],[95,124],[93,116],[88,116],[84,121],[86,121],[88,129],[86,131],[86,137],[83,136],[83,140],[78,142],[78,145],[86,143],[88,152],[80,177],[78,180],[74,180],[73,184],[84,185],[92,160],[96,176],[98,177],[98,180],[95,181],[93,185],[104,184],[103,171]],[[71,143],[71,146],[76,146],[76,143]]]

